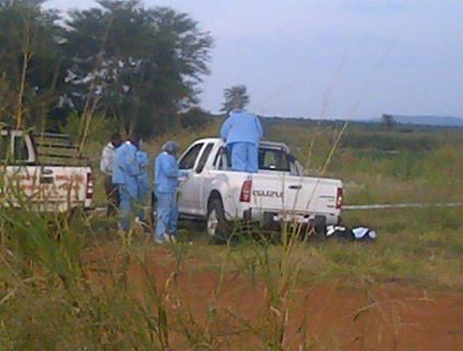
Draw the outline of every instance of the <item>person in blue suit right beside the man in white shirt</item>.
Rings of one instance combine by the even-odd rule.
[[[131,228],[131,217],[139,199],[140,165],[137,159],[139,139],[131,136],[115,152],[113,166],[113,184],[120,194],[120,226],[124,231]]]

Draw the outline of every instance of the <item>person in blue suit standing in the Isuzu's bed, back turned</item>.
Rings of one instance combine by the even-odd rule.
[[[263,136],[259,118],[242,110],[233,110],[221,129],[221,137],[232,149],[232,170],[257,173],[259,143]]]

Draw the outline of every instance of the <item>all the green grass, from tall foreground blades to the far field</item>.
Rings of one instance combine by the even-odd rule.
[[[304,121],[266,125],[268,138],[286,141],[309,166],[310,174],[320,172],[340,127]],[[177,139],[185,148],[217,131],[218,124],[212,124],[202,133],[172,133],[146,148],[154,158],[167,139]],[[462,200],[461,131],[384,132],[368,125],[352,125],[348,131],[327,172],[342,179],[348,203]],[[87,151],[98,168],[104,140],[97,136],[91,140]],[[104,203],[98,176],[97,171],[97,205]],[[285,316],[291,316],[289,305],[297,287],[337,282],[354,287],[387,283],[461,291],[462,218],[461,207],[345,212],[347,225],[376,230],[377,240],[371,244],[301,241],[287,231],[283,244],[245,235],[234,246],[212,246],[200,226],[188,225],[181,230],[181,242],[166,249],[168,259],[162,264],[171,275],[165,281],[150,274],[150,257],[156,258],[159,249],[138,231],[118,236],[98,214],[67,223],[3,208],[0,350],[168,350],[174,346],[221,350],[229,341],[216,332],[217,320],[225,318],[218,301],[222,283],[203,310],[192,312],[179,297],[178,278],[204,272],[214,272],[219,282],[232,274],[263,284],[267,293],[260,298],[268,309],[252,324],[239,322],[242,338],[252,336],[261,350],[284,350],[294,337],[289,335],[291,320]],[[92,261],[92,256],[108,248],[105,260]],[[143,272],[142,290],[131,285],[134,264]],[[104,280],[92,275],[97,272]],[[305,344],[324,348],[310,335],[297,337]]]

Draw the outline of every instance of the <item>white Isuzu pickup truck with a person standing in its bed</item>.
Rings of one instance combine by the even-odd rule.
[[[179,159],[181,218],[205,219],[207,233],[228,238],[233,222],[259,223],[274,229],[282,222],[319,228],[338,224],[342,206],[340,180],[305,177],[290,148],[263,141],[259,172],[230,170],[218,138],[193,143]]]

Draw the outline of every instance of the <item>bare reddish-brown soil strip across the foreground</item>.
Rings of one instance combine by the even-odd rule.
[[[91,257],[111,259],[111,252],[98,250]],[[178,274],[173,262],[167,248],[149,248],[145,262],[133,258],[128,271],[131,290],[142,302],[147,288],[154,290],[147,287],[147,275],[156,280],[178,330],[171,335],[173,350],[188,350],[173,324],[176,316],[185,320],[189,313],[197,326],[190,320],[183,328],[207,330],[219,350],[264,350],[281,329],[284,350],[304,350],[303,340],[310,341],[310,350],[463,350],[462,292],[426,292],[400,283],[354,288],[324,283],[297,286],[291,298],[276,299],[271,308],[262,281],[227,273],[221,284],[221,274],[199,269],[199,261],[185,260]],[[103,279],[92,274],[95,285]],[[214,318],[207,319],[212,307]],[[285,327],[279,329],[279,322]]]

